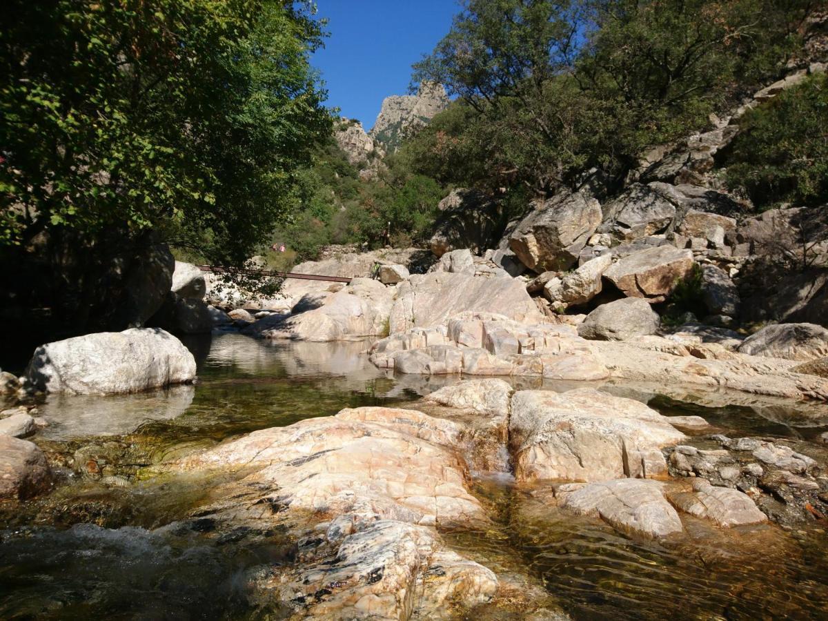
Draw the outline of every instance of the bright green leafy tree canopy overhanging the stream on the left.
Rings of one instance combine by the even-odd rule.
[[[271,233],[330,133],[321,24],[280,0],[10,0],[0,244],[147,229],[217,262]]]

